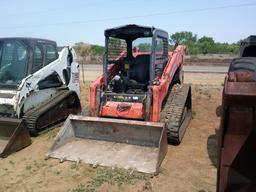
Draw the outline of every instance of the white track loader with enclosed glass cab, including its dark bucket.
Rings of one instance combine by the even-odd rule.
[[[80,113],[76,54],[56,42],[0,38],[0,157],[31,144],[70,113]]]

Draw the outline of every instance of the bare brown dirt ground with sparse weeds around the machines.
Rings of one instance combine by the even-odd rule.
[[[221,103],[223,79],[219,74],[186,74],[186,82],[192,84],[193,120],[182,144],[168,147],[159,175],[44,160],[56,127],[33,138],[29,147],[0,159],[0,191],[215,191],[220,121],[215,110]],[[88,85],[81,85],[83,106],[88,102]]]

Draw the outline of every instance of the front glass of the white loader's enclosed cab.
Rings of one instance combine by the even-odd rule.
[[[27,60],[27,48],[20,41],[0,41],[0,88],[17,87],[21,83]]]

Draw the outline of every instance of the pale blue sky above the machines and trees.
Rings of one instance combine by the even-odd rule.
[[[104,44],[104,29],[130,23],[218,42],[256,34],[256,0],[2,0],[0,7],[1,37],[40,37],[59,45]]]

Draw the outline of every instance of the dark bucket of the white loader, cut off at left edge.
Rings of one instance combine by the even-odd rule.
[[[30,144],[25,120],[0,118],[0,157],[7,157]]]

